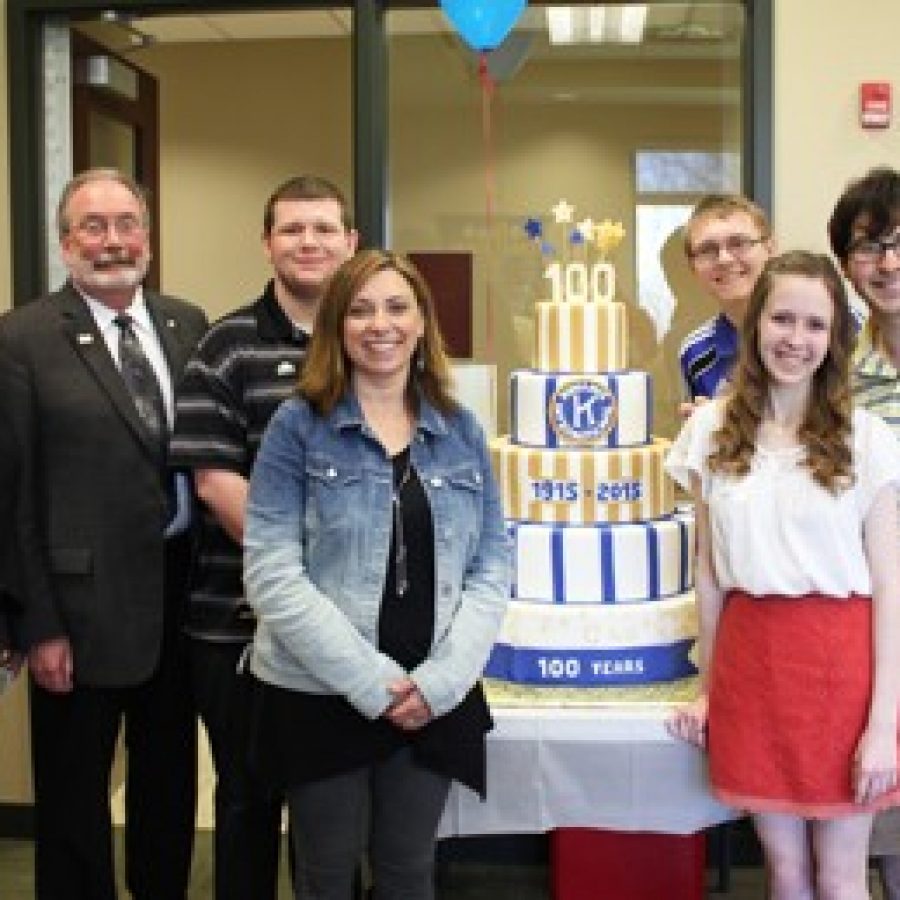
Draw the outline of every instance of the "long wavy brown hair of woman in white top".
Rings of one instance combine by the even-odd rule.
[[[722,427],[713,435],[709,468],[730,475],[750,471],[770,384],[759,352],[760,320],[775,280],[784,275],[821,281],[832,301],[828,352],[813,374],[798,437],[806,448],[804,465],[812,477],[836,493],[852,481],[850,356],[854,328],[837,269],[827,256],[816,253],[793,251],[775,256],[756,282],[741,329],[734,390],[725,406]]]

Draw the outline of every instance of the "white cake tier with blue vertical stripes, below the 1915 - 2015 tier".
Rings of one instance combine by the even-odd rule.
[[[621,525],[511,522],[512,596],[539,603],[659,600],[694,583],[694,517]]]

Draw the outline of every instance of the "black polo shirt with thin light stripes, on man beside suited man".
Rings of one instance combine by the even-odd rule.
[[[308,343],[279,306],[271,281],[256,301],[219,319],[179,385],[170,465],[249,478],[269,419],[297,387]],[[242,548],[204,509],[186,616],[192,637],[252,637],[256,623],[244,599],[242,566]]]

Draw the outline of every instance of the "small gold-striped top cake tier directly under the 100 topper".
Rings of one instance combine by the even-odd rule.
[[[535,304],[535,368],[544,372],[610,372],[628,368],[624,303]]]

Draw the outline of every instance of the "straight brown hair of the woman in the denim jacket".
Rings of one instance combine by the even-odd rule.
[[[450,363],[438,328],[434,300],[419,270],[399,253],[389,250],[361,250],[348,259],[331,277],[300,376],[299,391],[319,415],[327,415],[350,387],[351,363],[344,350],[344,320],[353,298],[365,283],[392,269],[413,290],[424,330],[410,367],[407,399],[415,409],[417,389],[428,402],[444,413],[459,407],[451,392]]]

